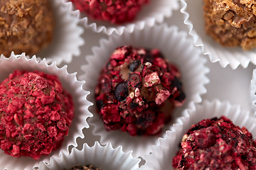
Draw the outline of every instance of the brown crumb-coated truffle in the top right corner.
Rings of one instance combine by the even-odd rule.
[[[206,33],[225,47],[256,47],[256,1],[204,0]]]

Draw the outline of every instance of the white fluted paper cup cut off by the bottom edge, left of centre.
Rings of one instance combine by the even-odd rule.
[[[82,150],[73,148],[70,154],[61,152],[60,157],[52,157],[50,164],[41,162],[40,170],[61,170],[70,169],[74,165],[102,168],[103,170],[139,170],[140,159],[132,157],[132,151],[122,152],[122,146],[116,149],[108,143],[102,147],[98,142],[89,147],[84,144]]]

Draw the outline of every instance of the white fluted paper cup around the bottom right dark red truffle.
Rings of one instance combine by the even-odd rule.
[[[141,168],[144,170],[152,169],[173,169],[172,159],[178,152],[178,145],[184,133],[191,128],[191,125],[200,122],[203,119],[209,119],[225,115],[234,125],[240,128],[245,126],[252,136],[256,137],[256,118],[250,115],[249,111],[241,111],[240,106],[231,105],[228,101],[220,102],[215,99],[213,101],[203,101],[201,105],[196,105],[195,109],[187,109],[183,111],[181,118],[177,119],[177,123],[167,131],[166,139],[160,140],[159,146],[152,147],[152,154],[146,155],[146,164]]]

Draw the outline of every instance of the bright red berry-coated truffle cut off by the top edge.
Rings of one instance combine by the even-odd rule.
[[[149,0],[70,0],[80,11],[97,20],[111,23],[133,21]]]

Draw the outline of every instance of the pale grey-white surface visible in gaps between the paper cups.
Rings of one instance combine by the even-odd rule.
[[[180,11],[174,11],[173,16],[165,20],[169,26],[177,25],[179,30],[188,31],[188,28],[183,24],[183,16]],[[99,46],[100,38],[107,38],[107,35],[102,33],[93,33],[90,29],[85,29],[82,37],[85,39],[85,45],[81,47],[80,57],[73,57],[73,62],[68,64],[68,72],[78,72],[78,77],[83,74],[80,66],[85,64],[85,56],[91,55],[92,46]],[[188,38],[191,38],[188,35]],[[204,55],[208,59],[208,56]],[[64,65],[64,64],[62,64]],[[250,80],[252,78],[252,70],[255,69],[255,65],[249,64],[246,69],[241,66],[238,69],[231,69],[228,65],[226,68],[220,67],[218,62],[211,63],[208,59],[206,66],[210,68],[210,73],[207,77],[210,79],[210,84],[206,85],[207,94],[202,96],[203,100],[208,99],[212,101],[213,98],[219,98],[220,101],[230,101],[231,104],[238,104],[243,110],[250,110]],[[90,80],[86,80],[90,81]],[[91,128],[83,130],[85,139],[78,139],[78,144],[87,142],[89,146],[92,146],[95,140],[99,140],[99,137],[93,137],[91,135]],[[78,149],[81,148],[78,147]]]

